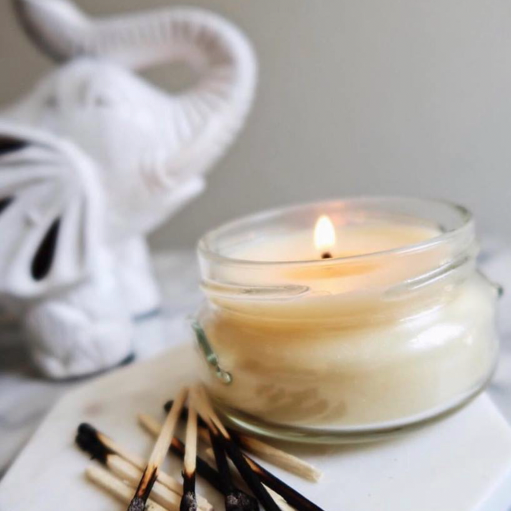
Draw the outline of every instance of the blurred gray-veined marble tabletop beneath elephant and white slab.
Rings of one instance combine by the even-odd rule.
[[[187,316],[202,297],[198,270],[191,251],[155,254],[164,307],[158,315],[136,325],[134,352],[137,360],[148,359],[189,335]],[[511,242],[487,238],[481,254],[483,271],[511,290]],[[500,300],[500,363],[489,394],[511,423],[511,292]],[[169,333],[172,337],[169,337]],[[0,476],[27,443],[52,405],[77,381],[52,382],[42,379],[31,367],[17,329],[6,320],[0,323]]]

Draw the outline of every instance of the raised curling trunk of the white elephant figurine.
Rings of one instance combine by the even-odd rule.
[[[205,171],[241,128],[257,64],[246,37],[222,17],[164,8],[90,18],[65,0],[13,1],[27,33],[58,61],[95,56],[131,69],[180,61],[198,72],[188,91],[170,98],[179,120],[176,173]]]

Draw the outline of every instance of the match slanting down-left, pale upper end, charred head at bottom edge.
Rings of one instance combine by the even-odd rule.
[[[179,414],[181,413],[181,408],[183,407],[187,396],[188,388],[184,387],[179,391],[179,394],[167,415],[167,419],[161,428],[160,434],[156,439],[156,443],[154,444],[151,455],[149,456],[146,468],[142,473],[135,495],[128,506],[128,511],[144,511],[146,501],[149,498],[149,494],[151,493],[152,487],[158,477],[161,463],[165,459],[165,455],[172,443],[174,429],[177,421],[179,420]]]

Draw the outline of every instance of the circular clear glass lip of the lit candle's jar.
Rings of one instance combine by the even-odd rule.
[[[412,243],[408,245],[403,245],[400,247],[390,248],[386,250],[377,250],[374,252],[365,252],[356,255],[348,255],[348,256],[340,256],[333,257],[329,259],[304,259],[304,260],[251,260],[251,259],[238,259],[229,257],[228,255],[224,255],[217,250],[211,248],[211,241],[215,238],[218,238],[222,234],[227,233],[229,230],[236,229],[238,227],[243,226],[244,224],[247,227],[250,223],[268,220],[270,218],[278,218],[285,213],[291,213],[293,211],[305,209],[305,208],[313,208],[319,207],[321,205],[328,207],[338,203],[344,204],[354,204],[357,202],[400,202],[400,201],[414,201],[416,203],[422,203],[424,205],[431,205],[432,207],[436,206],[447,206],[451,212],[454,212],[458,215],[460,224],[450,230],[446,230],[441,232],[438,236],[433,236],[426,240],[423,240],[419,243]],[[382,211],[384,211],[382,209]],[[428,220],[427,217],[419,217]],[[384,257],[386,255],[406,255],[409,253],[420,252],[423,250],[427,250],[429,248],[435,247],[439,244],[446,243],[452,241],[456,237],[461,237],[463,233],[467,230],[473,229],[473,215],[467,207],[444,199],[431,199],[431,198],[421,198],[421,197],[413,197],[413,196],[356,196],[356,197],[342,197],[337,199],[327,199],[327,200],[318,200],[312,202],[304,202],[304,203],[296,203],[289,204],[280,207],[273,207],[267,210],[261,210],[258,212],[250,213],[248,215],[244,215],[235,220],[231,220],[221,224],[220,226],[207,231],[198,241],[197,243],[197,252],[200,257],[207,259],[209,261],[219,263],[219,264],[230,264],[236,266],[258,266],[258,267],[268,267],[268,266],[278,266],[278,267],[288,267],[288,266],[331,266],[332,264],[342,264],[342,263],[351,263],[351,262],[361,262],[368,258],[372,257]]]

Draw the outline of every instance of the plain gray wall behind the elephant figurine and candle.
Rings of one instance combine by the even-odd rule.
[[[0,0],[0,103],[50,67]],[[168,5],[79,0],[91,14]],[[190,0],[245,29],[259,55],[246,129],[204,195],[152,235],[206,229],[284,203],[435,196],[511,234],[511,3],[507,0]],[[150,73],[158,84],[168,69]]]

